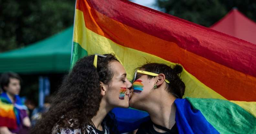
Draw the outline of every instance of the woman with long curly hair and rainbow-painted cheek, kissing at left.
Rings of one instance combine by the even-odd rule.
[[[112,54],[80,59],[64,79],[48,112],[31,134],[118,133],[115,107],[128,108],[131,82]]]

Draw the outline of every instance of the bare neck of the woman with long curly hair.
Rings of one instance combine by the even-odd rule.
[[[109,113],[109,111],[111,111],[112,109],[113,108],[111,106],[107,105],[106,100],[104,98],[102,98],[101,103],[100,103],[100,108],[99,108],[97,114],[94,117],[92,117],[92,119],[91,119],[91,121],[95,125],[96,129],[102,131],[101,122],[103,121],[105,116]]]

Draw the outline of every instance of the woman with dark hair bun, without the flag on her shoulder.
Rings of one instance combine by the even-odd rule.
[[[130,106],[149,113],[150,119],[142,123],[137,134],[176,134],[176,105],[182,99],[185,84],[180,79],[180,65],[147,63],[136,69]]]

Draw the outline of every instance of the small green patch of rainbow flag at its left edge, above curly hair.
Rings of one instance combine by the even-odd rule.
[[[70,64],[70,69],[75,65],[75,63],[82,57],[87,56],[88,52],[84,50],[79,43],[73,42],[73,52]]]

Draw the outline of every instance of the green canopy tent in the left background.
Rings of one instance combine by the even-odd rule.
[[[68,72],[71,59],[73,26],[27,47],[0,53],[0,73]]]

